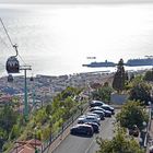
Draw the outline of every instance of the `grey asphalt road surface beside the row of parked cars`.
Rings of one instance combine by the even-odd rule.
[[[54,153],[95,153],[98,149],[96,137],[111,139],[114,136],[114,116],[105,118],[105,120],[101,121],[99,133],[94,134],[92,138],[69,134]]]

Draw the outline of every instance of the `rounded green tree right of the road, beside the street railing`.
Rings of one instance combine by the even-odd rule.
[[[131,129],[133,125],[137,125],[141,130],[143,129],[143,121],[148,122],[148,114],[140,103],[129,101],[123,105],[121,111],[117,114],[117,121],[121,127]]]

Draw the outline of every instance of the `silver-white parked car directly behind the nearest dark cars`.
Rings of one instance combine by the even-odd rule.
[[[96,122],[99,125],[99,120],[94,116],[86,116],[78,118],[78,123],[85,123],[85,122]]]

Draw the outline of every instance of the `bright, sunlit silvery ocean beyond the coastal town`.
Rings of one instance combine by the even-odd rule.
[[[0,4],[0,17],[21,66],[32,66],[30,75],[115,71],[82,64],[153,55],[153,3]],[[15,52],[1,24],[0,52],[0,75],[7,75],[5,61]]]

